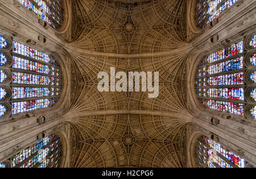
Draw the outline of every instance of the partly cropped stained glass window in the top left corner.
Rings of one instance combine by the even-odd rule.
[[[63,21],[62,1],[60,0],[19,0],[19,2],[34,11],[38,17],[53,28],[59,28]]]

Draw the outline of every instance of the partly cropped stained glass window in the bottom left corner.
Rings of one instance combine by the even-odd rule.
[[[57,168],[61,145],[55,135],[37,141],[32,147],[23,149],[10,157],[11,168]]]

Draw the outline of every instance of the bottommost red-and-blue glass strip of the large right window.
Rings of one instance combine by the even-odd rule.
[[[209,109],[214,109],[214,110],[223,111],[226,113],[232,113],[232,114],[241,115],[241,116],[243,116],[245,113],[244,105],[242,103],[216,101],[216,100],[210,99],[207,101],[207,107]]]

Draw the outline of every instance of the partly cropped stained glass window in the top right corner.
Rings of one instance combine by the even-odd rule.
[[[197,0],[197,26],[204,28],[238,0]]]

